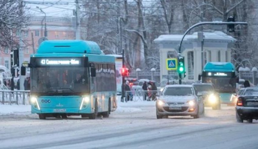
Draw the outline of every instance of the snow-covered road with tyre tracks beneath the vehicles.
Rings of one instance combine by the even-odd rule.
[[[103,120],[0,116],[0,148],[258,148],[258,121],[236,123],[233,107],[205,117],[156,119],[154,102],[119,103]]]

